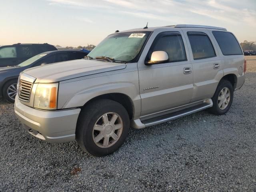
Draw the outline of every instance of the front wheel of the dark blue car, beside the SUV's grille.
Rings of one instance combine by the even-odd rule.
[[[2,89],[4,99],[11,103],[14,103],[15,101],[15,96],[17,93],[17,83],[18,79],[12,79],[6,82]]]

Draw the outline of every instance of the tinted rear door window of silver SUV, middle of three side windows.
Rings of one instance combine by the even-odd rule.
[[[188,39],[191,45],[194,60],[216,56],[212,42],[205,33],[188,32]]]

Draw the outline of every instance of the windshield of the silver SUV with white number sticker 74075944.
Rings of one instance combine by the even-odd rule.
[[[132,61],[139,54],[150,32],[112,34],[96,46],[88,57],[108,57],[117,61]]]

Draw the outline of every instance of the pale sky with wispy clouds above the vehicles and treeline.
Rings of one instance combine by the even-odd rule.
[[[175,24],[227,28],[256,41],[256,0],[0,0],[0,45],[97,45],[115,30]]]

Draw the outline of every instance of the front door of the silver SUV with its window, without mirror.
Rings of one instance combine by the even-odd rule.
[[[193,94],[193,71],[186,54],[183,34],[159,33],[146,56],[150,60],[154,51],[165,51],[167,62],[138,65],[141,116],[168,110],[190,103]]]

